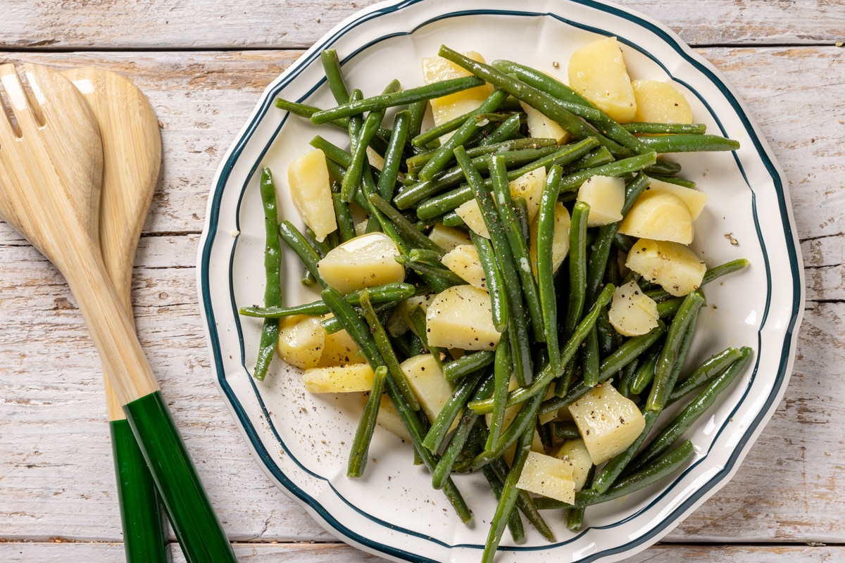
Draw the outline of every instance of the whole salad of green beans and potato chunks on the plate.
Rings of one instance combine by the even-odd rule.
[[[363,97],[321,60],[338,105],[276,106],[349,145],[317,134],[290,163],[304,232],[262,171],[264,306],[241,311],[264,319],[254,376],[278,355],[310,392],[361,395],[350,477],[377,426],[465,522],[452,477],[481,472],[498,498],[483,560],[523,518],[553,539],[547,519],[578,530],[587,506],[682,468],[684,432],[752,351],[682,369],[706,284],[746,262],[690,250],[707,195],[664,155],[739,143],[673,84],[631,80],[613,37],[575,51],[568,85],[443,46],[424,85]],[[282,305],[282,242],[319,299]]]

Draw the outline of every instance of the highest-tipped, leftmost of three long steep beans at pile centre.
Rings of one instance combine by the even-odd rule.
[[[455,149],[455,158],[464,170],[466,181],[472,189],[473,197],[481,209],[484,225],[487,226],[490,235],[490,242],[493,245],[493,252],[502,268],[504,279],[518,279],[516,264],[510,251],[510,245],[504,234],[504,225],[499,218],[499,212],[493,203],[493,197],[484,185],[481,175],[472,166],[472,161],[466,156],[463,147]],[[499,172],[501,172],[499,170]],[[499,178],[498,181],[502,181]],[[516,381],[521,385],[530,382],[532,379],[531,351],[528,349],[528,327],[526,324],[525,309],[522,305],[522,291],[517,284],[504,284],[504,290],[508,299],[508,330],[511,338],[511,349],[514,359],[514,373]]]

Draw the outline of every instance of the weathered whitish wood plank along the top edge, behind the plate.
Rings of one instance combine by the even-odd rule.
[[[310,46],[358,8],[375,3],[254,0],[251,3],[194,0],[90,4],[6,0],[0,45],[7,49],[74,50],[277,49]],[[617,0],[625,8],[657,19],[693,45],[740,43],[832,44],[842,40],[841,0],[708,0],[695,3]],[[496,3],[488,3],[488,6]],[[512,4],[499,0],[499,6]]]

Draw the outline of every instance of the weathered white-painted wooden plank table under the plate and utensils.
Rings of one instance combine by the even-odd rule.
[[[138,332],[244,561],[378,559],[339,544],[259,469],[213,382],[195,285],[212,177],[259,94],[370,3],[3,0],[0,11],[0,62],[125,73],[159,116]],[[668,24],[744,97],[788,176],[807,287],[792,379],[739,473],[630,560],[845,561],[845,0],[619,3]],[[0,560],[123,560],[105,419],[100,361],[64,280],[0,222]]]

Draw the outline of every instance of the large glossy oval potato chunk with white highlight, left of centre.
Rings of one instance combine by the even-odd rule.
[[[317,268],[326,284],[346,294],[404,280],[405,267],[396,262],[397,256],[396,243],[388,235],[374,232],[335,246]]]

